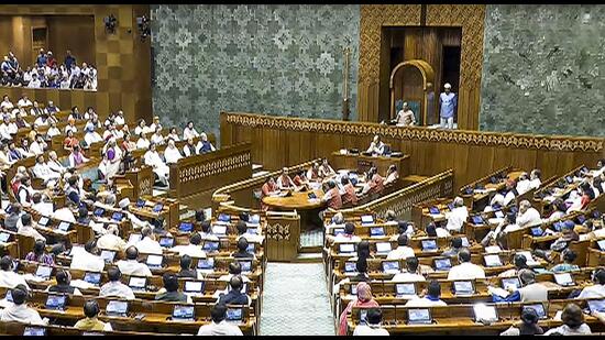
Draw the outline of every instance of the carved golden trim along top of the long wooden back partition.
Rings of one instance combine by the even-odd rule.
[[[448,142],[469,145],[490,145],[549,151],[601,152],[605,139],[546,136],[532,134],[513,134],[465,130],[438,130],[427,128],[400,128],[366,122],[343,122],[337,120],[315,120],[285,118],[253,113],[222,112],[226,122],[248,128],[270,128],[297,132],[342,133],[354,135],[374,135],[383,138]]]

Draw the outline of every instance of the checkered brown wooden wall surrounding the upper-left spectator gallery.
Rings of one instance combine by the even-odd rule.
[[[116,34],[108,34],[105,31],[103,18],[113,13],[118,18],[118,28]],[[29,51],[23,45],[25,36],[31,41],[23,28],[30,24],[26,22],[29,17],[43,15],[77,15],[84,18],[94,18],[94,59],[98,70],[98,91],[85,92],[82,90],[58,91],[40,89],[34,90],[32,99],[54,100],[59,108],[70,108],[72,106],[92,106],[97,112],[105,117],[110,111],[122,109],[127,121],[135,121],[139,118],[151,120],[151,57],[150,41],[141,42],[139,39],[136,17],[150,17],[148,4],[2,4],[0,6],[0,15],[8,15],[11,19],[13,30],[12,40],[21,42],[21,47],[15,48],[15,53],[23,54]],[[16,21],[16,22],[13,22]],[[1,21],[0,21],[1,22]],[[68,25],[69,21],[65,23]],[[2,23],[0,23],[2,26]],[[78,30],[81,25],[62,28],[65,30]],[[4,35],[6,34],[6,35]],[[0,36],[9,36],[10,32],[0,31]],[[18,36],[19,35],[19,36]],[[0,37],[0,42],[4,37]],[[53,37],[50,37],[53,40]],[[68,40],[66,40],[68,41]],[[81,42],[78,39],[78,42]],[[19,45],[19,44],[16,44]],[[19,46],[16,46],[19,47]],[[90,48],[72,46],[72,51],[78,48]],[[59,47],[62,48],[62,47]],[[54,53],[65,53],[65,51],[53,51]],[[76,54],[76,53],[75,53]],[[84,59],[76,54],[78,63]],[[22,89],[0,88],[0,94],[8,94],[12,100],[19,99]]]

